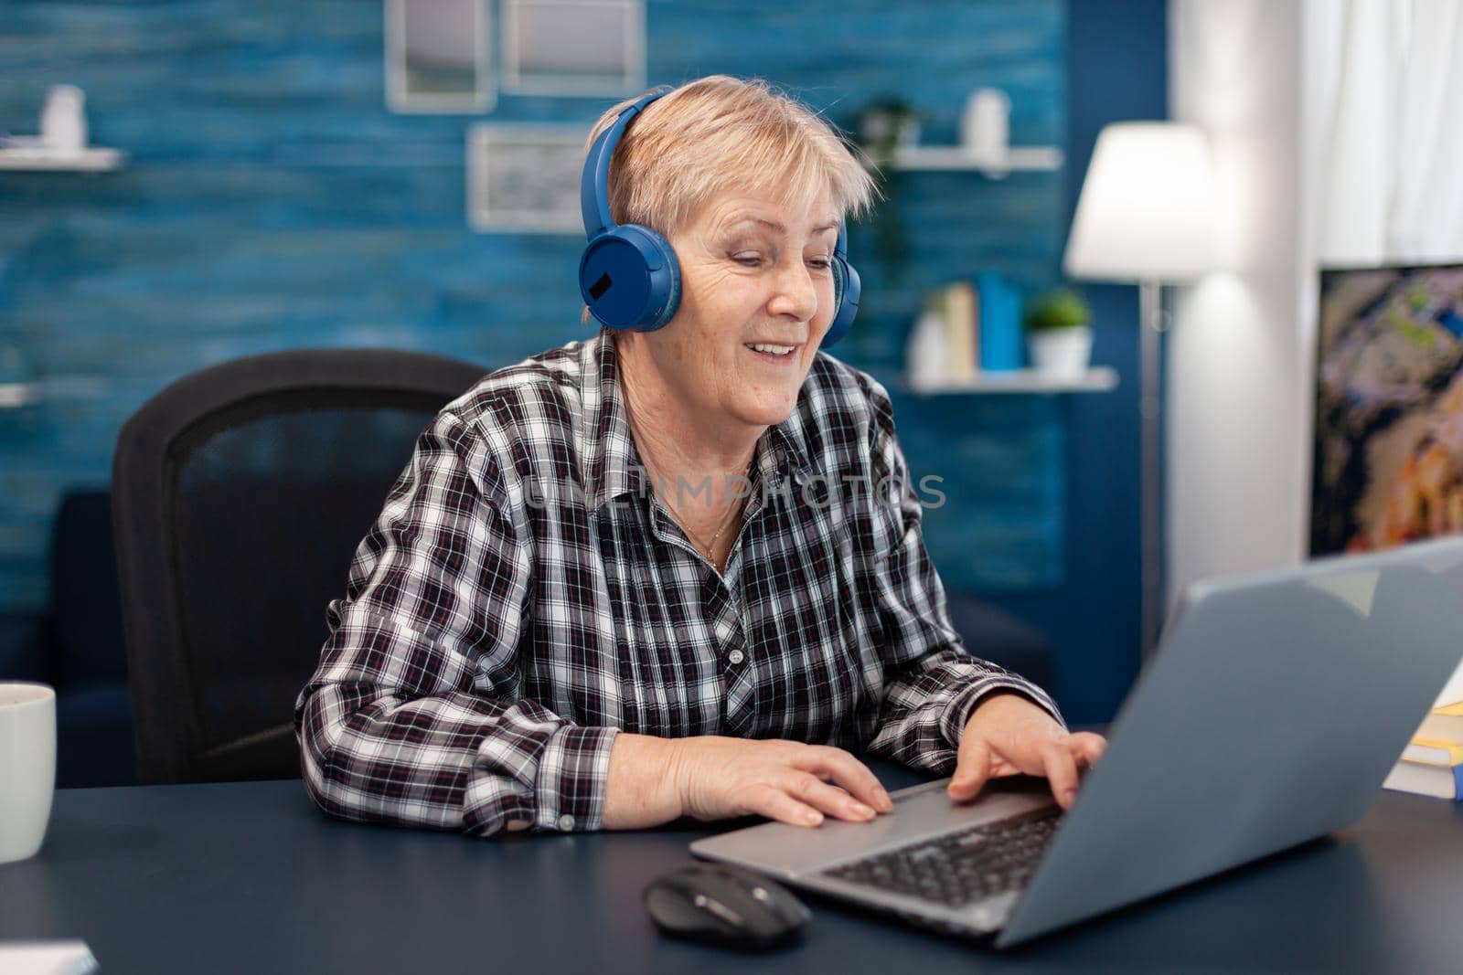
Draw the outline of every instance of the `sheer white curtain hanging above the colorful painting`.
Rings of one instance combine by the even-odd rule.
[[[1463,260],[1463,1],[1311,0],[1323,265]]]

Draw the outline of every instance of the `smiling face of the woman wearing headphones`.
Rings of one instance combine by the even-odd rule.
[[[712,199],[670,235],[680,307],[638,338],[682,408],[756,433],[793,414],[832,322],[838,222],[827,194],[796,210],[742,190]]]

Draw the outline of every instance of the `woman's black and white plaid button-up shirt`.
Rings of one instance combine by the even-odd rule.
[[[332,816],[601,826],[620,731],[827,743],[948,775],[976,703],[888,393],[819,354],[756,444],[724,574],[650,490],[601,330],[484,377],[421,434],[296,703]],[[859,488],[863,490],[850,490]]]

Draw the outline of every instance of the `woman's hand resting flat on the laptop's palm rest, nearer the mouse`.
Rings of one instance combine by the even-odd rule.
[[[824,816],[862,823],[894,808],[868,766],[843,748],[705,735],[672,746],[683,816],[761,814],[796,826]]]

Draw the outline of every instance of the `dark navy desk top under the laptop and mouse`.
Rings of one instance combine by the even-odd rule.
[[[63,789],[41,854],[0,867],[0,938],[85,938],[107,974],[1463,971],[1463,811],[1438,800],[1383,792],[1333,839],[1008,955],[821,900],[786,952],[664,940],[639,892],[704,832],[478,841],[329,822],[300,782]]]

